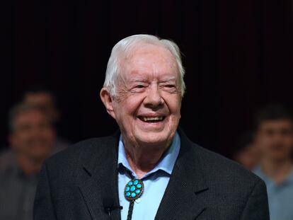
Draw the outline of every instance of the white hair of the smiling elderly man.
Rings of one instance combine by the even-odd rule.
[[[105,73],[105,82],[104,87],[108,88],[110,95],[115,96],[116,86],[117,86],[117,76],[119,74],[120,62],[119,59],[123,56],[127,56],[130,50],[133,49],[135,45],[139,45],[141,43],[151,44],[151,45],[159,45],[161,47],[165,47],[167,50],[171,52],[173,57],[176,59],[178,65],[178,71],[180,74],[180,84],[181,84],[181,96],[183,97],[185,93],[185,83],[184,83],[184,74],[185,70],[182,65],[181,54],[178,45],[171,40],[160,39],[154,35],[132,35],[130,37],[125,37],[124,39],[117,42],[117,44],[113,47],[107,70]]]

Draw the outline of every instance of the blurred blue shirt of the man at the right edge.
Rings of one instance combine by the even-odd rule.
[[[293,167],[287,179],[279,184],[265,175],[260,167],[253,173],[267,185],[270,220],[293,220]]]

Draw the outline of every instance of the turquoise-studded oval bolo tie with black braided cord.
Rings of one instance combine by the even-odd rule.
[[[132,179],[126,185],[124,189],[124,196],[127,201],[130,202],[130,206],[128,208],[127,220],[132,219],[132,212],[134,207],[135,199],[138,199],[142,196],[142,192],[144,192],[144,183],[139,179]]]

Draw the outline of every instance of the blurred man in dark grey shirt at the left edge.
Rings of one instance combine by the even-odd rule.
[[[0,219],[32,220],[40,168],[54,147],[54,127],[41,108],[21,103],[10,111],[9,129],[11,151],[0,158]]]

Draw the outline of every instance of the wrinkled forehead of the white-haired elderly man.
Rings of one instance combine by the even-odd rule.
[[[161,45],[137,45],[120,59],[120,76],[179,78],[178,64],[173,54]]]

